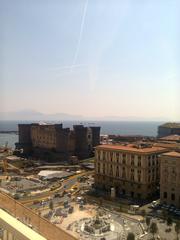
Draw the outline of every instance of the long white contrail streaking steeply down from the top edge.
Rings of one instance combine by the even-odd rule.
[[[80,43],[81,43],[81,39],[82,39],[82,33],[83,33],[83,28],[84,28],[84,22],[85,22],[85,17],[86,17],[86,12],[87,12],[88,1],[89,0],[86,0],[85,5],[84,5],[82,20],[81,20],[81,26],[80,26],[80,32],[79,32],[79,39],[78,39],[77,48],[76,48],[76,51],[75,51],[73,63],[72,63],[72,66],[70,68],[70,72],[72,71],[73,66],[76,65],[77,56],[79,54],[79,48],[80,48]]]

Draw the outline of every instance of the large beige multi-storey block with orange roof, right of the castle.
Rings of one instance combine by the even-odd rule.
[[[151,145],[100,145],[95,153],[95,185],[116,190],[116,195],[138,199],[158,192],[158,155],[167,150]]]

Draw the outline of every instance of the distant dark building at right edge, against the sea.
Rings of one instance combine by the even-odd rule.
[[[159,138],[174,134],[180,135],[180,123],[165,123],[158,127]]]

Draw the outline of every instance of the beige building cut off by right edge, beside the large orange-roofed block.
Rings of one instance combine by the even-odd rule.
[[[161,155],[160,199],[180,208],[180,153]]]

